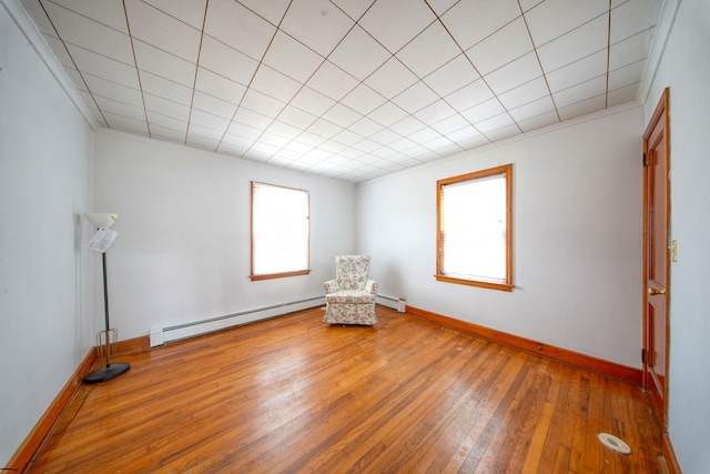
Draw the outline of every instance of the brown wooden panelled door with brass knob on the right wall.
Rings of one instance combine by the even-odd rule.
[[[668,309],[670,297],[669,91],[666,89],[643,134],[643,383],[667,431]]]

